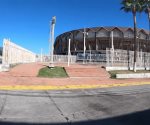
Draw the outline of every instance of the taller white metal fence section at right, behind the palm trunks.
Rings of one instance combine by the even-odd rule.
[[[134,51],[128,50],[106,50],[107,67],[133,67]],[[136,65],[139,68],[150,67],[150,53],[138,51]]]

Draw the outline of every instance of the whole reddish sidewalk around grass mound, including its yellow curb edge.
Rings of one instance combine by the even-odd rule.
[[[124,79],[116,80],[108,78],[108,74],[100,66],[84,66],[79,64],[67,67],[66,64],[56,64],[57,66],[64,66],[66,71],[77,71],[71,78],[39,78],[36,77],[40,68],[44,64],[31,63],[21,64],[12,68],[9,72],[0,73],[0,89],[84,89],[84,88],[100,88],[100,87],[113,87],[113,86],[130,86],[150,84],[150,79]],[[79,72],[84,70],[83,74]],[[97,70],[97,73],[92,72],[92,69]],[[87,72],[87,76],[85,73]],[[101,72],[100,75],[98,72]],[[70,74],[71,74],[70,73]],[[68,73],[69,74],[69,73]],[[77,75],[78,74],[78,75]],[[91,74],[91,76],[90,76]],[[103,77],[102,77],[103,74]],[[105,76],[105,77],[104,77]],[[30,87],[29,87],[30,86]]]

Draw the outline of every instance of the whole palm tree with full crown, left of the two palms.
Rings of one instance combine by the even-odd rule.
[[[122,0],[121,10],[125,12],[132,12],[133,22],[134,22],[134,64],[133,70],[136,72],[136,58],[137,58],[137,22],[136,14],[142,10],[142,5],[140,0]]]

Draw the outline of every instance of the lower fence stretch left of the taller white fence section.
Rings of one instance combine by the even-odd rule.
[[[54,63],[67,63],[68,62],[68,55],[54,55],[53,56]],[[106,64],[106,51],[99,51],[85,53],[79,52],[77,55],[70,55],[69,56],[70,63],[86,63],[86,64]],[[36,57],[37,62],[50,62],[51,56],[49,55],[37,55]]]

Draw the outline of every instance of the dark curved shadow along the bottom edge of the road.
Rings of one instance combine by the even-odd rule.
[[[16,122],[2,122],[0,125],[149,125],[150,124],[150,110],[127,114],[123,116],[106,118],[100,120],[89,120],[81,122],[70,123],[16,123]]]

